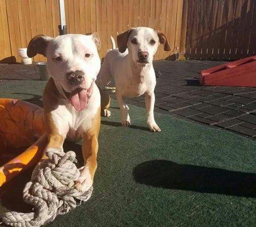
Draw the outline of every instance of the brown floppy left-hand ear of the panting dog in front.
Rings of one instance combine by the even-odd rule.
[[[51,37],[45,35],[35,36],[30,40],[30,43],[27,46],[27,56],[34,57],[36,54],[40,53],[46,57],[46,48]]]

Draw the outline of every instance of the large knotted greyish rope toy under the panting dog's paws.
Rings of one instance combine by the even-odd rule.
[[[34,206],[35,212],[7,212],[2,216],[6,225],[36,227],[53,221],[57,215],[65,215],[77,206],[77,200],[87,201],[93,187],[86,192],[74,188],[80,171],[75,163],[75,152],[47,150],[48,159],[38,163],[30,182],[23,190],[23,200]]]

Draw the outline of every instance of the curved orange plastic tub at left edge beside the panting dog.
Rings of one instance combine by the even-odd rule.
[[[0,98],[0,116],[0,159],[4,154],[19,154],[0,167],[1,187],[39,161],[47,137],[41,107],[22,100]]]

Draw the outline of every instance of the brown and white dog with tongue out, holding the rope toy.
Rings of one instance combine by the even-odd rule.
[[[38,53],[47,57],[51,75],[43,93],[46,149],[63,150],[65,138],[84,140],[84,166],[75,185],[79,191],[92,186],[97,169],[101,98],[94,81],[101,68],[100,49],[100,38],[95,32],[55,38],[39,35],[27,48],[29,57]]]

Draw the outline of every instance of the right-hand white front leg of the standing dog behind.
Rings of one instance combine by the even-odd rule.
[[[155,123],[154,118],[154,105],[155,105],[155,94],[145,94],[145,103],[147,109],[147,124],[152,132],[160,132],[161,129]]]

